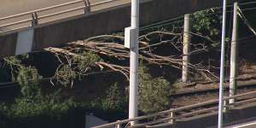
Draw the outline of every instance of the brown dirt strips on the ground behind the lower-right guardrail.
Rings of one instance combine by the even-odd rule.
[[[256,83],[256,64],[255,63],[243,63],[241,67],[239,67],[239,75],[237,84],[250,84]],[[226,82],[225,86],[228,87],[229,83]],[[195,84],[193,86],[182,86],[177,89],[177,93],[184,93],[195,90],[210,90],[210,89],[218,89],[218,83],[206,83],[206,84]],[[251,86],[250,88],[244,88],[241,90],[237,90],[237,94],[245,93],[248,91],[256,90],[255,86]],[[224,96],[228,96],[229,90],[225,90]],[[209,92],[207,94],[194,95],[194,96],[181,96],[177,97],[172,102],[172,108],[187,106],[200,102],[207,102],[213,99],[218,99],[218,91],[217,92]]]

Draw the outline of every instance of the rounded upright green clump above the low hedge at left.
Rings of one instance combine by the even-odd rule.
[[[42,77],[35,67],[20,67],[17,81],[20,84],[20,92],[27,99],[41,95],[39,82]]]

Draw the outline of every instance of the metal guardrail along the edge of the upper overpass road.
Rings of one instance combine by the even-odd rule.
[[[33,26],[33,22],[38,22],[38,20],[41,20],[41,19],[44,19],[44,18],[48,18],[48,17],[55,16],[55,15],[66,14],[66,13],[73,12],[73,11],[76,11],[76,10],[79,10],[79,9],[91,8],[91,7],[94,7],[94,6],[97,6],[97,5],[102,5],[102,4],[105,4],[105,3],[112,3],[114,1],[119,1],[119,0],[106,0],[106,1],[103,1],[103,2],[93,3],[93,4],[90,4],[89,0],[77,0],[77,1],[69,2],[69,3],[61,3],[61,4],[58,4],[58,5],[55,5],[55,6],[50,6],[50,7],[44,8],[44,9],[36,9],[36,10],[28,11],[28,12],[21,13],[21,14],[18,14],[18,15],[9,15],[9,16],[0,18],[0,20],[9,20],[9,19],[18,18],[18,17],[25,16],[25,15],[32,15],[32,18],[29,18],[29,19],[26,19],[26,20],[19,20],[19,21],[15,21],[15,22],[5,24],[5,25],[1,25],[0,28],[1,27],[6,27],[6,26],[15,26],[15,25],[19,25],[19,24],[26,23],[26,22],[29,22],[29,21],[32,22],[31,26]],[[52,14],[49,14],[49,15],[41,15],[41,16],[38,15],[39,12],[43,12],[43,11],[50,10],[50,9],[61,8],[61,7],[76,4],[76,3],[84,3],[84,6],[73,8],[73,9],[66,9],[66,10],[56,12],[56,13],[52,13]],[[33,18],[33,15],[37,15],[37,16],[35,18]],[[25,27],[27,27],[27,26],[15,28],[15,29],[3,31],[3,32],[14,31],[14,30],[17,30],[17,29],[20,29],[20,28],[25,28]],[[0,32],[0,33],[3,33],[3,32]]]

